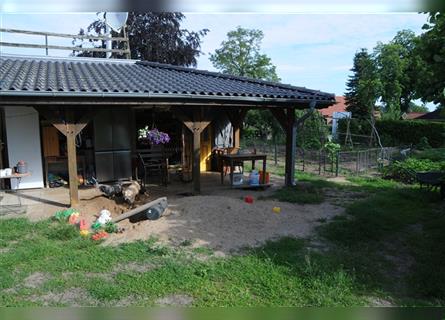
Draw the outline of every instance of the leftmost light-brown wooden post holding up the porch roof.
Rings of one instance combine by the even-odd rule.
[[[68,152],[68,176],[70,185],[70,205],[75,207],[79,204],[79,190],[77,185],[77,154],[76,135],[77,128],[71,111],[66,112],[66,147]]]

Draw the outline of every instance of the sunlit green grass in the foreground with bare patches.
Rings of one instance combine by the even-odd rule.
[[[72,296],[76,303],[105,306],[150,306],[175,294],[192,297],[197,306],[365,304],[355,293],[354,277],[338,266],[325,268],[303,240],[284,238],[202,261],[184,247],[155,240],[104,247],[67,230],[50,221],[0,221],[0,305],[63,306],[73,303],[60,299],[69,292],[81,293]],[[28,279],[36,274],[44,281],[31,286]]]

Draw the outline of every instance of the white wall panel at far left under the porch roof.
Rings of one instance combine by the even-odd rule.
[[[39,114],[31,107],[4,109],[9,166],[12,168],[19,160],[24,160],[31,173],[31,176],[22,178],[20,189],[43,188]],[[17,188],[16,179],[12,179],[11,188]]]

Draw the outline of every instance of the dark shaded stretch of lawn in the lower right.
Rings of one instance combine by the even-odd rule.
[[[349,205],[346,216],[321,225],[319,232],[333,244],[330,255],[355,270],[368,288],[385,290],[400,304],[412,299],[443,304],[444,209],[435,193],[382,188]]]

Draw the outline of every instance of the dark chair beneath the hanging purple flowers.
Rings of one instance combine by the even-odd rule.
[[[158,175],[160,183],[168,183],[168,158],[163,146],[153,146],[151,149],[138,153],[138,159],[144,171],[143,185],[145,187],[149,176]]]

